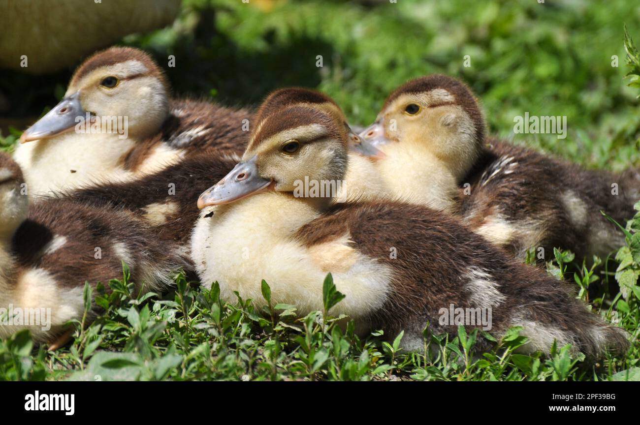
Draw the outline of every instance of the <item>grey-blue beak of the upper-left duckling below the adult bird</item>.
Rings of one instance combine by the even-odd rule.
[[[38,139],[46,139],[54,135],[71,130],[76,123],[86,119],[86,111],[80,105],[80,91],[64,98],[45,116],[20,136],[20,143],[27,143]]]

